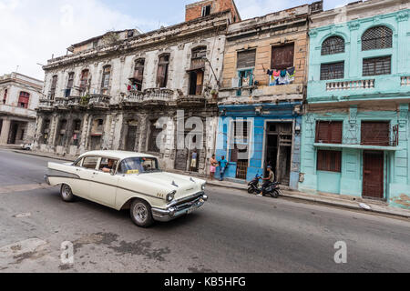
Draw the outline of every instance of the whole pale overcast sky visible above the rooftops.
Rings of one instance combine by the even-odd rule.
[[[0,75],[17,70],[43,80],[39,64],[69,45],[109,30],[143,32],[184,21],[195,0],[0,0]],[[235,0],[242,19],[266,15],[313,0]],[[352,0],[324,0],[333,9]],[[18,66],[18,67],[17,67]]]

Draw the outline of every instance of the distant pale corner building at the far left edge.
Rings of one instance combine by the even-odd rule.
[[[11,73],[0,76],[0,145],[31,143],[43,82]]]

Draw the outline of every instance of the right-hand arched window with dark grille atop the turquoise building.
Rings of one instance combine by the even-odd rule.
[[[386,26],[367,29],[362,35],[362,50],[390,48],[393,46],[393,31]]]

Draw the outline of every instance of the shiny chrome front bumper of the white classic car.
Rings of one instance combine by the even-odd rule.
[[[161,208],[152,208],[152,217],[161,222],[167,222],[173,220],[179,216],[190,214],[192,211],[200,208],[205,204],[205,201],[208,200],[208,196],[204,192],[193,196],[192,200],[172,202],[166,209]]]

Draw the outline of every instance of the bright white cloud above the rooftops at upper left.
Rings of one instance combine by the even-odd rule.
[[[109,30],[156,28],[157,22],[112,10],[99,0],[0,0],[0,74],[44,78],[40,65],[65,55],[69,45]]]

